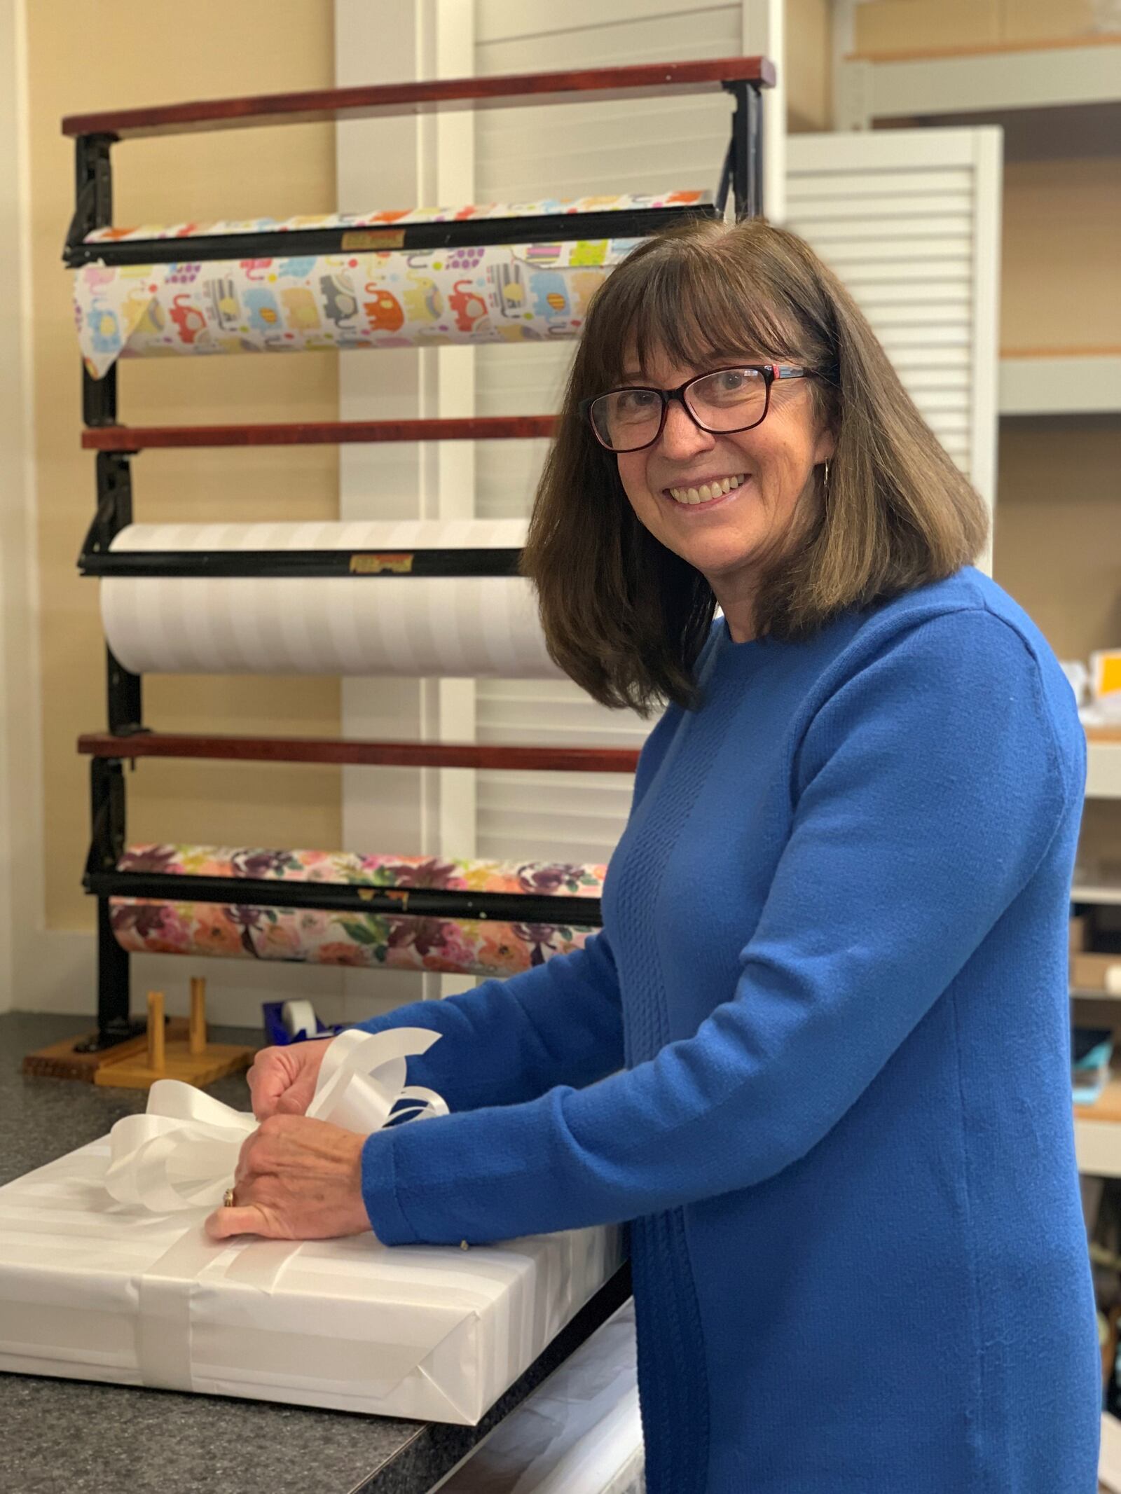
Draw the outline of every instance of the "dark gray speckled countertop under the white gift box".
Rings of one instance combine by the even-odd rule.
[[[0,1014],[0,1183],[145,1109],[145,1091],[22,1076],[24,1053],[87,1025],[94,1023]],[[214,1037],[260,1041],[239,1029]],[[242,1076],[218,1080],[209,1094],[248,1109]],[[0,1487],[4,1494],[426,1494],[626,1295],[625,1270],[478,1427],[0,1374]]]

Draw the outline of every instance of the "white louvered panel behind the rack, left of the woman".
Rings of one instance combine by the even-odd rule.
[[[604,16],[610,13],[610,21]],[[623,63],[737,57],[743,6],[677,0],[541,0],[513,6],[478,0],[475,72],[547,72]],[[731,124],[731,99],[552,105],[475,115],[475,202],[543,196],[716,188]],[[480,415],[540,415],[558,409],[574,344],[480,347]],[[480,441],[475,511],[529,512],[546,444]],[[640,747],[652,722],[608,711],[568,681],[480,680],[481,743]],[[623,774],[478,774],[477,855],[607,861],[626,822],[632,780]]]

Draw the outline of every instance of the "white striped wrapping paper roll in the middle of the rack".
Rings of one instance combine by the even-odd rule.
[[[120,551],[520,548],[525,520],[130,524]],[[133,674],[555,678],[525,577],[106,577],[106,642]]]

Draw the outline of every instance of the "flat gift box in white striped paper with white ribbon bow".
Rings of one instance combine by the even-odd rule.
[[[401,1100],[438,1115],[404,1086],[405,1053],[433,1040],[342,1034],[314,1113],[353,1129]],[[468,1250],[214,1243],[203,1219],[254,1122],[161,1085],[149,1115],[0,1188],[1,1370],[474,1425],[620,1264],[616,1230]]]

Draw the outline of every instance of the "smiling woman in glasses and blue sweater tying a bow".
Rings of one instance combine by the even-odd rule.
[[[596,296],[526,569],[608,705],[670,707],[604,931],[365,1023],[453,1115],[300,1118],[266,1052],[215,1234],[632,1221],[650,1494],[1093,1494],[1069,1083],[1073,698],[985,515],[792,233],[694,224]],[[713,607],[723,619],[713,624]]]

